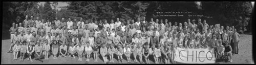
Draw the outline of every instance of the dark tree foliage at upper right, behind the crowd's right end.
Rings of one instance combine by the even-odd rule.
[[[250,2],[202,2],[203,11],[214,16],[224,26],[234,26],[243,33],[247,31],[252,13]]]

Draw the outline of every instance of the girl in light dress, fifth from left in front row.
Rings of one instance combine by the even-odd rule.
[[[44,46],[42,47],[42,51],[44,51],[44,54],[45,54],[45,59],[48,60],[49,58],[49,51],[50,51],[50,44],[48,44],[48,40],[45,40],[45,44]]]

